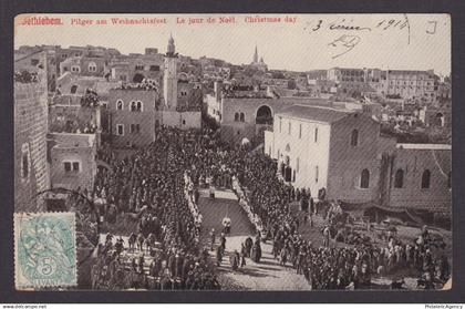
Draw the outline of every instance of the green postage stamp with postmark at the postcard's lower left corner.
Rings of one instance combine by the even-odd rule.
[[[14,214],[17,289],[78,284],[74,213]]]

